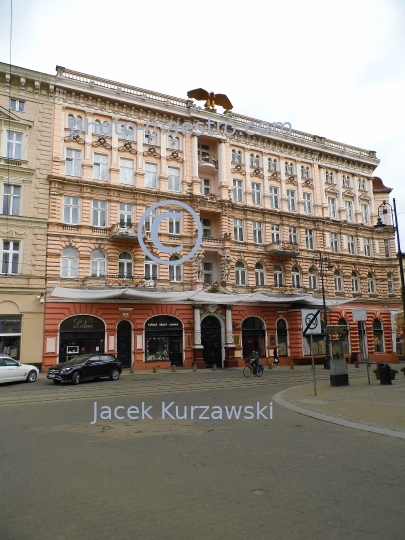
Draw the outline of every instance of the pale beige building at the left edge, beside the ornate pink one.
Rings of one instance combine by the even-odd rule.
[[[0,63],[0,353],[42,365],[55,77]]]

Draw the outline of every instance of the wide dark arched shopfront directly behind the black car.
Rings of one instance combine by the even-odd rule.
[[[105,324],[98,317],[74,315],[59,329],[59,362],[78,354],[104,353]]]

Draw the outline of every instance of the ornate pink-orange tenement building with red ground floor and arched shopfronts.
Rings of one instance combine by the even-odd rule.
[[[231,121],[233,135],[216,124]],[[189,135],[173,122],[190,122]],[[393,233],[373,228],[391,190],[373,176],[375,152],[283,126],[248,135],[249,122],[257,133],[252,118],[57,68],[45,366],[81,351],[116,353],[135,369],[235,366],[253,348],[267,363],[275,347],[281,363],[309,363],[301,309],[322,307],[319,252],[330,259],[328,322],[348,327],[345,354],[397,360]],[[179,210],[175,201],[201,220],[201,246],[182,265],[156,264],[138,242],[137,223],[161,201],[173,204],[142,230],[155,256],[169,258],[151,224]],[[164,245],[183,245],[172,257],[197,240],[188,213],[159,231]],[[364,349],[354,307],[366,308]],[[314,342],[322,361],[324,337]]]

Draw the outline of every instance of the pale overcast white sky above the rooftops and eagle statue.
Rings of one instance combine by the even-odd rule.
[[[10,0],[0,0],[9,62]],[[61,65],[376,150],[405,251],[405,0],[13,0],[11,62]]]

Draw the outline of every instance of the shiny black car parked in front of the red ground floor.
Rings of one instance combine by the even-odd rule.
[[[55,384],[68,381],[79,384],[82,379],[99,380],[101,377],[110,377],[117,381],[122,372],[121,362],[110,354],[82,354],[75,356],[68,362],[56,364],[48,369],[47,379]]]

